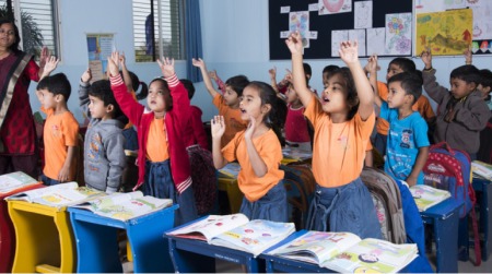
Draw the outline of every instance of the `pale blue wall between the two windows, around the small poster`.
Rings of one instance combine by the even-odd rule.
[[[116,46],[127,56],[127,67],[141,81],[149,83],[161,75],[156,63],[136,63],[133,51],[133,23],[131,0],[58,0],[60,14],[61,63],[54,73],[67,74],[72,94],[69,108],[79,122],[83,122],[79,108],[78,87],[80,75],[87,68],[89,56],[86,34],[112,33],[115,35]],[[186,76],[183,61],[176,65],[178,76]],[[40,107],[35,96],[36,83],[31,84],[31,104],[33,111]]]

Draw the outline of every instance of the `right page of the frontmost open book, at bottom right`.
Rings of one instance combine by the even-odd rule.
[[[367,238],[323,262],[321,266],[337,272],[396,273],[415,257],[415,245],[394,245]]]

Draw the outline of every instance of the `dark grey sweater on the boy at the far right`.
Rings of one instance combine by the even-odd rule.
[[[429,96],[438,104],[434,141],[446,141],[450,147],[475,154],[480,146],[480,131],[489,121],[491,112],[478,91],[471,92],[464,102],[455,106],[456,116],[446,122],[447,103],[453,98],[449,91],[441,86],[435,79],[435,70],[422,72],[424,88]]]

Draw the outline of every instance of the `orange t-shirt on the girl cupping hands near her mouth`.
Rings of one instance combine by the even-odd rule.
[[[267,165],[267,174],[259,178],[253,170],[251,163],[247,153],[246,141],[244,140],[244,131],[238,132],[234,139],[222,148],[224,158],[229,162],[237,159],[241,165],[239,174],[237,175],[237,184],[246,199],[250,202],[258,201],[267,192],[277,186],[283,179],[283,170],[279,169],[282,160],[282,147],[279,139],[273,130],[267,131],[261,136],[253,139],[259,156]]]

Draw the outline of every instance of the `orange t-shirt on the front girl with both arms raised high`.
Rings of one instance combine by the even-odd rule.
[[[359,178],[374,129],[375,114],[366,121],[356,114],[349,121],[333,123],[330,115],[323,111],[321,103],[313,96],[304,115],[315,130],[313,175],[316,182],[325,188],[333,188]]]

